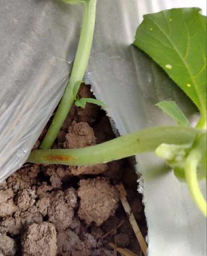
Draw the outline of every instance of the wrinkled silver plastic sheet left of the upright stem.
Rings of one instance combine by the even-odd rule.
[[[47,0],[1,0],[0,20],[2,181],[25,162],[64,92],[81,7]]]

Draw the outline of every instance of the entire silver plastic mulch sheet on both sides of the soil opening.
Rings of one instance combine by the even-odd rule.
[[[172,123],[154,107],[180,103],[193,120],[196,111],[178,87],[141,51],[130,46],[142,15],[205,1],[98,0],[97,20],[85,80],[108,106],[121,134]],[[81,6],[52,0],[0,0],[0,181],[26,160],[63,94],[75,56]],[[106,19],[107,17],[107,19]],[[144,179],[150,256],[203,256],[205,219],[186,185],[152,154],[137,158]]]

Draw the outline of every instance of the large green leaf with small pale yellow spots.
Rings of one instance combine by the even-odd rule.
[[[134,45],[151,56],[191,98],[206,125],[206,17],[199,8],[145,15]]]

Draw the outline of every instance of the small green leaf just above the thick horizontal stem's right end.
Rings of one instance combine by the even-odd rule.
[[[156,106],[172,117],[179,125],[190,126],[188,119],[175,102],[162,101],[157,103]]]

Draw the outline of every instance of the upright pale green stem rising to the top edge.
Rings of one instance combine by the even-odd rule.
[[[83,21],[76,58],[73,63],[71,75],[67,83],[64,95],[60,104],[58,105],[49,130],[41,143],[41,149],[49,149],[54,143],[54,140],[60,131],[61,126],[63,125],[74,101],[72,93],[73,87],[77,81],[83,80],[93,41],[96,1],[97,0],[82,2]]]

